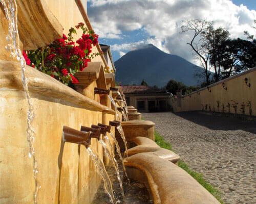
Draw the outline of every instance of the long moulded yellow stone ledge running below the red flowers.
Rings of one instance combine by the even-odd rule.
[[[72,88],[58,82],[49,75],[30,66],[26,66],[25,76],[28,79],[29,91],[40,96],[66,100],[67,102],[94,111],[115,114],[106,106],[102,106]],[[0,61],[0,88],[23,90],[22,68],[20,63]]]

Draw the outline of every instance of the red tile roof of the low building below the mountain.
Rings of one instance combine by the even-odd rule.
[[[122,86],[122,91],[124,94],[127,93],[167,93],[164,89],[158,89],[145,85],[136,85],[136,86]]]

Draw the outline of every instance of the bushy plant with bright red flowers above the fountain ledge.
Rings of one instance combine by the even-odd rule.
[[[74,42],[76,29],[82,30],[82,36]],[[98,43],[98,35],[88,30],[83,23],[78,23],[76,29],[69,30],[68,37],[63,34],[60,39],[36,50],[23,52],[27,65],[30,65],[53,78],[70,85],[79,83],[74,77],[78,71],[88,66],[88,62],[99,53],[93,53],[92,47]]]

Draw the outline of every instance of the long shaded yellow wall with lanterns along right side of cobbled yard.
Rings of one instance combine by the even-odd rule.
[[[245,78],[248,79],[247,84],[250,83],[250,87],[246,85]],[[222,82],[224,82],[224,88],[227,88],[227,90],[223,88]],[[221,81],[220,83],[209,86],[209,90],[207,88],[199,90],[198,92],[188,94],[182,98],[175,98],[174,96],[170,98],[169,103],[173,106],[175,112],[204,110],[238,114],[243,114],[241,105],[244,104],[245,114],[250,115],[250,101],[251,115],[256,115],[255,82],[256,68],[253,68],[238,75],[238,77],[229,78]],[[237,104],[237,112],[232,106],[235,104]],[[229,105],[230,108],[228,108]]]

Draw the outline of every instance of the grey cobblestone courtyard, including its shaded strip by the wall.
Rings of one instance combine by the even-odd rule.
[[[256,203],[256,124],[199,113],[143,113],[226,203]]]

